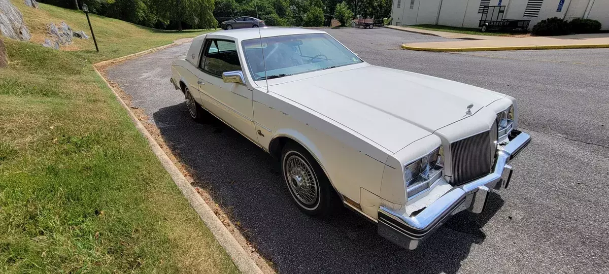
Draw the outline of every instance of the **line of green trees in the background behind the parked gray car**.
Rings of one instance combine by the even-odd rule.
[[[238,16],[253,16],[268,26],[323,26],[339,19],[349,24],[354,16],[384,18],[392,0],[39,0],[82,9],[157,29],[214,28]],[[339,7],[339,14],[336,9]],[[348,19],[347,19],[348,18]]]

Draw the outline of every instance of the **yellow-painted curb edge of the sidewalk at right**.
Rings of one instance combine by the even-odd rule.
[[[600,49],[609,44],[558,44],[548,46],[502,46],[502,47],[414,47],[402,44],[403,49],[410,51],[519,51],[533,49]]]

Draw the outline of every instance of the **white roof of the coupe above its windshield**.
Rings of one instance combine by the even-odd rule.
[[[233,38],[235,40],[248,40],[260,37],[273,37],[292,34],[326,33],[322,30],[300,29],[298,27],[253,27],[247,29],[220,30],[208,33],[209,38]]]

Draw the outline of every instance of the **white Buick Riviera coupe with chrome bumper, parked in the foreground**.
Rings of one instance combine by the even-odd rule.
[[[409,249],[484,211],[531,139],[513,97],[370,65],[320,30],[208,33],[171,72],[192,119],[209,111],[280,160],[303,212],[347,206]]]

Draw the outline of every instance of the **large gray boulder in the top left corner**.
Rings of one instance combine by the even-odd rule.
[[[0,33],[21,41],[32,38],[23,22],[23,15],[9,0],[0,0]]]

